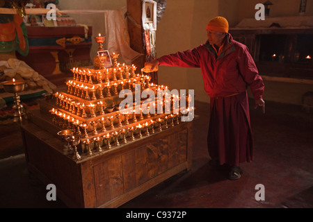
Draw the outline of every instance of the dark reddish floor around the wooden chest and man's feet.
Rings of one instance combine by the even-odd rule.
[[[193,167],[130,200],[120,208],[312,208],[313,114],[300,107],[266,103],[266,114],[250,101],[255,161],[241,164],[239,180],[227,180],[226,167],[208,164],[209,104],[195,102]],[[65,208],[47,201],[47,189],[31,175],[15,124],[0,126],[0,207]],[[265,199],[256,200],[264,185]]]

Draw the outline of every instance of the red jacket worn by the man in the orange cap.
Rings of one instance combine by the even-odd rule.
[[[233,40],[230,34],[224,45],[219,56],[207,42],[195,49],[161,56],[159,65],[200,67],[204,89],[210,97],[245,92],[249,85],[255,99],[262,99],[264,83],[248,47]]]

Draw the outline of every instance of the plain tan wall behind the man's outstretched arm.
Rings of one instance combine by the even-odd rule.
[[[192,49],[207,40],[205,27],[218,15],[218,1],[168,0],[157,26],[157,56]],[[160,67],[159,84],[170,89],[194,89],[195,99],[209,102],[200,69]]]

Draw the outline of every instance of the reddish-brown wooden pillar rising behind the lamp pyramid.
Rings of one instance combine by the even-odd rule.
[[[138,53],[143,53],[144,56],[140,56],[136,60],[132,61],[138,71],[145,66],[146,52],[145,45],[143,44],[143,25],[141,22],[142,15],[142,3],[141,0],[127,0],[127,26],[130,38],[131,49]],[[157,84],[157,72],[150,74],[152,80],[151,83]]]

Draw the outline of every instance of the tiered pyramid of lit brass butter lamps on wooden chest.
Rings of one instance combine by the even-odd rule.
[[[62,130],[67,130],[63,132],[63,137],[69,130],[74,131],[74,135],[68,135],[67,144],[70,142],[74,147],[70,149],[72,153],[67,152],[67,155],[76,161],[101,155],[119,148],[121,144],[135,142],[177,126],[179,116],[184,115],[182,111],[185,113],[193,109],[185,107],[172,109],[170,114],[143,114],[141,107],[133,105],[121,112],[119,104],[113,104],[121,90],[129,89],[134,93],[136,84],[139,84],[141,92],[152,89],[157,94],[158,90],[166,90],[168,87],[150,83],[149,75],[136,74],[137,67],[134,64],[120,65],[117,54],[114,53],[113,58],[113,66],[104,69],[74,67],[73,78],[66,81],[66,92],[54,94],[54,105],[49,110],[53,116],[52,122]],[[152,108],[149,106],[149,110],[155,111],[158,104],[164,110],[166,101],[163,96],[161,100],[158,99],[152,103]],[[179,96],[171,95],[171,107],[175,101],[179,103],[180,99]],[[186,101],[189,99],[186,98]]]

